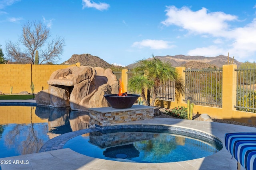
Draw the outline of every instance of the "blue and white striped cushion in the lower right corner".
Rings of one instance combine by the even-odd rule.
[[[256,133],[226,133],[225,147],[246,170],[256,170]]]

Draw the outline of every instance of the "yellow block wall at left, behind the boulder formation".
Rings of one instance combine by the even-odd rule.
[[[80,63],[76,63],[80,66]],[[72,65],[75,66],[75,65]],[[47,81],[52,72],[67,68],[66,65],[34,65],[34,64],[0,64],[0,91],[4,94],[12,94],[27,91],[31,93],[30,85],[34,83],[35,93],[42,88],[48,89]]]

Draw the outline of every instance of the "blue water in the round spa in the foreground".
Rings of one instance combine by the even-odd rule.
[[[174,134],[156,129],[131,131],[95,131],[66,142],[80,154],[107,160],[141,163],[178,162],[210,156],[223,146],[204,139]]]

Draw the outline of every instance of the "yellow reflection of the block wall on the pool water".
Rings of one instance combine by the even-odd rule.
[[[9,123],[48,123],[48,119],[41,119],[35,114],[33,106],[1,106],[0,125]]]

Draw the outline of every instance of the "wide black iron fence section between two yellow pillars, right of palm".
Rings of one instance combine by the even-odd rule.
[[[185,99],[194,104],[222,107],[222,69],[184,70]]]

